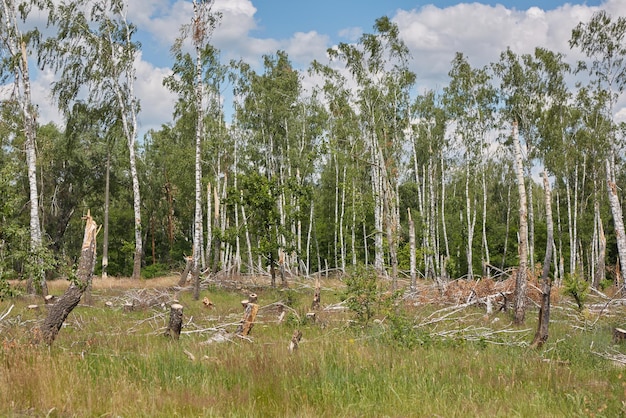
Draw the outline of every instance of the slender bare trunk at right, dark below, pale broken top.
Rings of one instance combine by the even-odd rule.
[[[552,262],[552,249],[554,247],[554,222],[552,220],[552,193],[550,191],[548,174],[545,171],[543,172],[543,187],[546,197],[546,225],[548,236],[546,240],[546,256],[543,260],[543,271],[541,273],[541,308],[539,308],[539,323],[537,325],[535,338],[531,344],[532,348],[539,348],[548,341],[548,327],[550,324],[550,292],[552,282],[549,275],[550,264]]]

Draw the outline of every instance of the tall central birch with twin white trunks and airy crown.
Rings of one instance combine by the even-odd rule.
[[[344,63],[357,84],[361,129],[365,138],[374,198],[374,267],[384,273],[383,235],[389,245],[392,280],[397,273],[399,209],[397,185],[400,158],[410,112],[408,93],[415,74],[408,69],[409,51],[397,25],[376,20],[376,34],[364,34],[357,45],[329,49],[332,60]]]

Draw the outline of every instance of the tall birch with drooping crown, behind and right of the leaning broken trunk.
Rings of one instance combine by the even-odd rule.
[[[89,107],[116,109],[129,153],[135,231],[132,277],[138,279],[143,238],[136,156],[136,28],[128,21],[127,5],[122,0],[62,1],[49,20],[58,32],[54,39],[46,41],[42,64],[50,65],[59,74],[52,86],[59,108],[67,114],[72,103],[85,95]]]

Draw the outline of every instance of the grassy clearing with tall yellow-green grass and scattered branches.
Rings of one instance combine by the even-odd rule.
[[[340,281],[270,289],[210,283],[200,301],[176,277],[94,280],[51,346],[34,345],[46,315],[36,299],[0,302],[0,416],[7,417],[616,417],[626,415],[626,349],[612,341],[623,312],[553,309],[550,339],[531,350],[537,311],[524,327],[509,313],[371,296],[372,317],[337,307]],[[60,295],[66,281],[50,284]],[[250,339],[234,335],[241,300],[260,305]],[[214,306],[206,307],[207,297]],[[184,306],[180,340],[164,337],[169,304]],[[107,306],[107,302],[109,305]],[[279,322],[277,302],[287,306]],[[39,309],[28,305],[39,303]],[[125,310],[125,303],[134,309]],[[326,309],[325,309],[326,308]],[[367,319],[367,318],[366,318]],[[294,330],[300,347],[287,349]]]

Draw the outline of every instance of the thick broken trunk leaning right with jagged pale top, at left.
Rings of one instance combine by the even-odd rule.
[[[63,296],[61,296],[54,305],[51,305],[46,319],[38,328],[37,337],[41,338],[41,340],[48,345],[52,345],[59,330],[63,326],[63,322],[65,322],[67,316],[78,305],[80,298],[91,283],[93,267],[96,260],[96,234],[98,232],[98,225],[96,225],[96,222],[89,212],[87,212],[85,220],[85,235],[83,237],[83,245],[76,277],[74,277]]]

